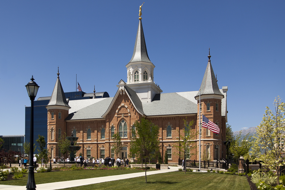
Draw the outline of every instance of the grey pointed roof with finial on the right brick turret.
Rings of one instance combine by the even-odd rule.
[[[209,56],[208,56],[209,60],[208,60],[208,65],[201,83],[201,95],[204,94],[217,94],[217,95],[222,95],[224,96],[221,91],[219,90],[219,86],[217,83],[217,80],[215,78],[215,74],[212,68],[212,64],[211,64],[211,56],[210,56],[210,48],[209,48]],[[196,97],[199,96],[199,92],[196,95]]]

